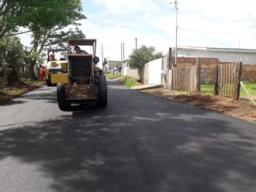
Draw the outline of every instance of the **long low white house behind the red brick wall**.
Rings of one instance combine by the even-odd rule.
[[[218,58],[220,62],[256,64],[256,50],[199,46],[178,46],[177,50],[178,57],[208,57]],[[172,49],[172,55],[174,51]]]

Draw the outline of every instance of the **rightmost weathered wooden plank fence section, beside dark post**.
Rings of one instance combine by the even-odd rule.
[[[234,98],[240,96],[242,63],[221,63],[215,67],[214,94]]]

